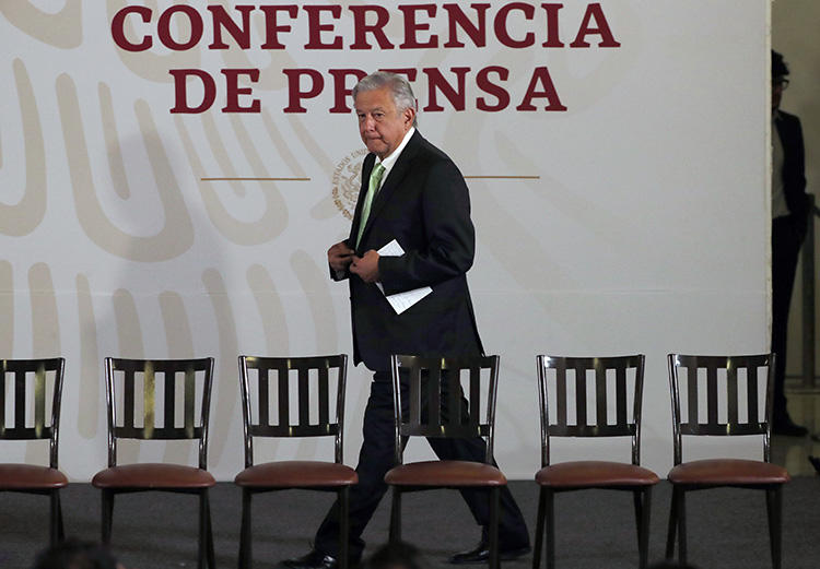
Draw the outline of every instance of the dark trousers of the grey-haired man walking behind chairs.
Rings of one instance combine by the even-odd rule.
[[[408,398],[403,395],[402,404]],[[442,399],[446,401],[446,399]],[[462,405],[467,402],[461,398]],[[443,410],[444,413],[444,410]],[[461,416],[465,416],[462,414]],[[396,464],[395,419],[393,404],[393,382],[389,372],[377,371],[371,383],[371,396],[364,411],[364,441],[359,453],[359,484],[350,491],[350,558],[362,556],[364,542],[362,532],[376,511],[382,497],[387,491],[384,477]],[[483,462],[487,446],[483,439],[427,439],[436,455],[442,460],[466,460]],[[460,490],[476,522],[484,529],[490,522],[490,494],[483,489]],[[387,541],[387,529],[385,529]],[[505,486],[501,493],[501,517],[499,543],[502,549],[529,545],[527,524],[518,505]],[[316,533],[314,548],[337,556],[339,549],[339,505],[335,503]]]

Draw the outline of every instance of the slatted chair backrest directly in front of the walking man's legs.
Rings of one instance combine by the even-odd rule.
[[[492,462],[499,356],[394,355],[390,360],[396,462],[401,464],[405,437],[483,437],[487,440],[484,461]],[[483,417],[482,391],[487,393]]]

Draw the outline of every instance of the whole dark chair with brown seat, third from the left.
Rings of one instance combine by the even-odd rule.
[[[343,464],[342,434],[348,356],[253,357],[239,356],[245,470],[234,483],[242,488],[242,531],[239,568],[251,565],[250,499],[263,491],[302,488],[336,491],[340,506],[339,566],[348,567],[348,505],[350,486],[359,476]],[[291,372],[295,382],[291,384]],[[331,383],[336,381],[332,396]],[[318,401],[311,401],[311,384],[316,383]],[[295,388],[295,389],[292,389]],[[271,398],[276,407],[271,408]],[[331,412],[331,402],[336,411]],[[291,416],[291,403],[297,410]],[[312,407],[316,411],[311,418]],[[295,420],[294,420],[295,418]],[[277,461],[254,463],[255,437],[333,437],[333,462]]]

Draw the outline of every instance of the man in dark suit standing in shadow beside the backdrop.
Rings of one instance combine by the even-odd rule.
[[[789,417],[784,383],[788,308],[810,212],[800,120],[780,109],[783,90],[788,85],[786,75],[783,56],[772,51],[772,352],[777,354],[772,429],[775,435],[803,437],[808,430]]]

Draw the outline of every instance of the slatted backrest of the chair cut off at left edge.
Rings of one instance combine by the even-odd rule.
[[[0,360],[0,440],[49,439],[49,465],[57,469],[60,400],[66,359]],[[5,414],[7,401],[14,420]],[[49,396],[50,395],[50,396]]]

